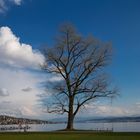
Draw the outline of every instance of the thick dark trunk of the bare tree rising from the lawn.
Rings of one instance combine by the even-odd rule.
[[[74,114],[73,114],[73,98],[69,100],[69,112],[68,112],[68,122],[67,122],[67,130],[73,129],[73,121],[74,121]]]

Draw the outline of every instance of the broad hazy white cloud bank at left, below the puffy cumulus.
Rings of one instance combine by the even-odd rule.
[[[0,67],[0,77],[0,87],[5,87],[0,89],[0,97],[8,95],[6,98],[0,98],[0,114],[18,117],[34,117],[40,114],[37,94],[41,93],[42,89],[37,85],[44,80],[43,76],[29,71]],[[21,89],[25,87],[32,87],[32,90],[24,94]]]

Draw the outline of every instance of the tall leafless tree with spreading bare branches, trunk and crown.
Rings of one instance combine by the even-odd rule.
[[[54,83],[55,101],[48,112],[67,113],[66,129],[73,129],[74,118],[82,106],[101,97],[116,95],[116,90],[110,89],[102,74],[111,54],[110,43],[102,43],[94,37],[83,38],[69,24],[61,27],[54,47],[44,50],[46,64],[43,68],[62,77]]]

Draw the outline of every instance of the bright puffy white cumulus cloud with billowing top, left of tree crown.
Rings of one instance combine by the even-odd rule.
[[[38,67],[43,55],[31,45],[20,43],[9,27],[0,28],[0,63],[14,67]]]

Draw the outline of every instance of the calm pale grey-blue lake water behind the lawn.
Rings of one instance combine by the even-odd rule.
[[[2,127],[12,127],[17,125],[7,125]],[[62,124],[32,124],[29,125],[31,128],[27,131],[55,131],[64,129],[66,127],[65,123]],[[116,123],[75,123],[74,128],[76,129],[84,129],[84,130],[112,130],[114,132],[140,132],[140,122],[116,122]],[[13,131],[13,130],[7,130]],[[23,130],[14,130],[14,131],[23,131]],[[2,131],[4,132],[4,131]]]

